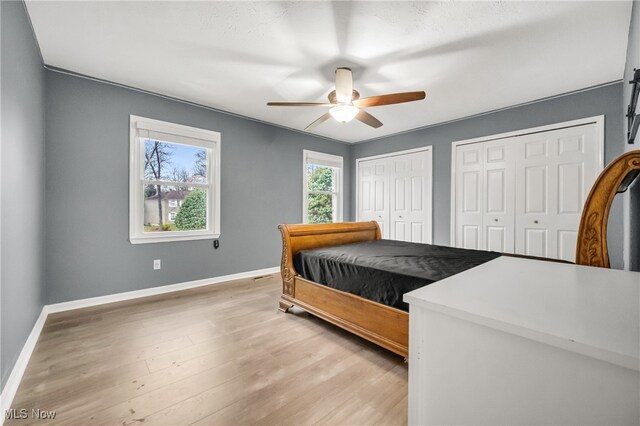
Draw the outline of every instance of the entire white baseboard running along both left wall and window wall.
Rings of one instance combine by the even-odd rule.
[[[160,287],[146,288],[144,290],[127,291],[124,293],[111,294],[108,296],[91,297],[89,299],[73,300],[71,302],[55,303],[53,305],[45,305],[42,307],[42,312],[38,317],[31,334],[27,338],[18,360],[11,370],[11,375],[7,380],[2,394],[0,395],[0,408],[2,409],[0,417],[0,426],[5,420],[5,411],[11,408],[11,403],[16,395],[20,381],[24,375],[24,371],[29,364],[29,359],[33,353],[44,323],[47,320],[47,316],[56,312],[70,311],[73,309],[87,308],[89,306],[104,305],[107,303],[121,302],[124,300],[138,299],[140,297],[155,296],[157,294],[172,293],[174,291],[187,290],[190,288],[203,287],[206,285],[220,284],[227,281],[240,280],[243,278],[259,277],[261,275],[270,275],[280,272],[280,267],[257,269],[254,271],[240,272],[238,274],[224,275],[221,277],[205,278],[203,280],[187,281],[178,284],[170,284]]]

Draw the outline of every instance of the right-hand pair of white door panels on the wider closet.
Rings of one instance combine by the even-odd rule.
[[[516,145],[516,253],[573,261],[584,201],[600,170],[593,124]]]

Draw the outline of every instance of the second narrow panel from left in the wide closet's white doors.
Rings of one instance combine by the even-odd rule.
[[[513,139],[482,143],[482,248],[501,253],[515,250],[515,150]]]

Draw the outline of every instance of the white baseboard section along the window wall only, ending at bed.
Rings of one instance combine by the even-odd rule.
[[[238,274],[224,275],[221,277],[205,278],[203,280],[187,281],[178,284],[169,284],[159,287],[145,288],[143,290],[127,291],[124,293],[110,294],[107,296],[91,297],[88,299],[72,300],[70,302],[54,303],[47,305],[50,314],[70,311],[73,309],[88,308],[90,306],[104,305],[107,303],[122,302],[124,300],[138,299],[140,297],[155,296],[158,294],[172,293],[174,291],[187,290],[205,285],[219,284],[226,281],[240,280],[243,278],[258,277],[280,272],[280,267],[257,269],[255,271],[240,272]]]

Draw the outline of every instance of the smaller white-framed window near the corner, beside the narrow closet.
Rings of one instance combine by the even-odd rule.
[[[342,221],[342,157],[304,150],[304,223]]]

